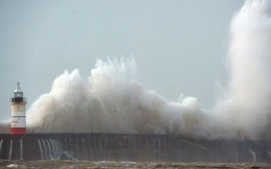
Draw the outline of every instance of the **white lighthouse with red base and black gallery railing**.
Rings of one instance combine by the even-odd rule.
[[[10,98],[11,104],[11,130],[10,134],[26,134],[25,105],[26,98],[23,97],[20,83],[14,91],[14,97]]]

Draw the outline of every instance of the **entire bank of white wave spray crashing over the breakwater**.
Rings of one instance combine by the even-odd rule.
[[[203,111],[194,97],[168,101],[135,79],[131,59],[97,60],[88,82],[65,71],[27,111],[28,133],[182,134],[260,139],[271,115],[271,1],[246,1],[230,26],[225,96]],[[179,77],[181,78],[181,77]],[[211,98],[210,98],[211,99]],[[9,133],[9,123],[0,123]]]

